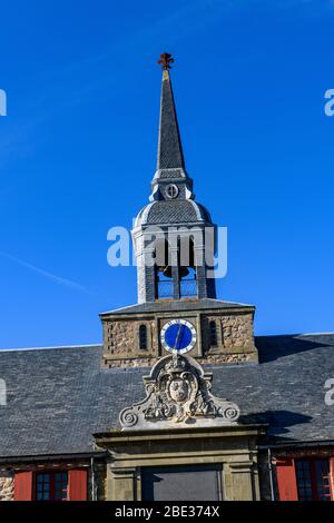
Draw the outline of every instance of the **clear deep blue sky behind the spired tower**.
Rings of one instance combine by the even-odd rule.
[[[12,0],[1,6],[0,347],[100,342],[136,302],[107,230],[155,170],[163,51],[198,201],[228,227],[223,299],[256,333],[333,330],[334,2]]]

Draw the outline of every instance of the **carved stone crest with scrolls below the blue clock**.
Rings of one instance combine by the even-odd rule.
[[[144,377],[147,396],[119,415],[122,430],[233,425],[239,407],[210,393],[213,375],[195,359],[165,356]]]

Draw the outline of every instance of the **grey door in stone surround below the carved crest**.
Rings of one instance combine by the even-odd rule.
[[[219,501],[222,465],[141,468],[143,501]]]

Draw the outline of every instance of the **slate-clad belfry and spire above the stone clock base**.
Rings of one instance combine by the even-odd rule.
[[[207,270],[213,265],[215,225],[195,200],[186,171],[169,73],[173,62],[166,52],[158,61],[163,85],[157,169],[149,204],[132,229],[138,303],[216,297],[215,279]]]

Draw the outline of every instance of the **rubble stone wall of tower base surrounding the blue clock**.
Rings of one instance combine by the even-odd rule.
[[[173,317],[190,320],[197,329],[197,344],[189,356],[203,363],[224,364],[257,361],[254,345],[253,310],[194,310]],[[104,366],[106,367],[141,367],[156,363],[163,354],[159,344],[159,332],[170,314],[151,314],[140,317],[104,319]],[[215,322],[217,343],[210,343],[210,322]],[[147,348],[139,347],[139,327],[147,327]],[[198,332],[200,330],[200,332]]]

